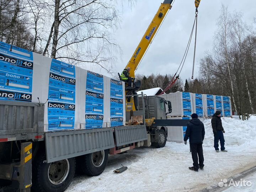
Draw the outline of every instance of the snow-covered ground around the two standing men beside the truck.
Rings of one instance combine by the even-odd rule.
[[[188,166],[192,166],[189,145],[167,142],[161,149],[137,148],[126,154],[110,156],[106,170],[100,176],[77,176],[66,191],[200,191],[218,186],[221,179],[256,166],[255,123],[256,117],[249,121],[223,118],[228,152],[216,153],[210,120],[205,120],[203,171],[188,170]],[[128,170],[114,174],[113,170],[121,164]],[[256,181],[253,181],[255,183],[247,190],[255,191]]]

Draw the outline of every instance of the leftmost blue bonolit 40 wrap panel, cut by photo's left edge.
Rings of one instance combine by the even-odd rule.
[[[31,51],[0,42],[0,90],[11,91],[21,96],[32,96],[33,53]],[[24,92],[26,94],[24,94]],[[5,94],[4,94],[5,95]],[[12,99],[28,101],[30,99]],[[0,97],[6,100],[5,96]],[[11,98],[11,97],[9,97]],[[15,96],[13,97],[15,98]]]

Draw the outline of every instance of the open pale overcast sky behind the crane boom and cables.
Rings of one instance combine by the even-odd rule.
[[[163,0],[138,0],[132,7],[124,4],[122,10],[121,28],[114,38],[121,46],[122,60],[118,59],[116,70],[121,73],[137,48],[156,11]],[[206,50],[212,50],[216,22],[222,6],[228,5],[228,10],[241,11],[247,24],[252,24],[256,17],[255,0],[201,0],[198,8],[198,34],[196,50],[195,75],[198,75],[199,60],[204,57]],[[136,74],[150,75],[174,74],[185,52],[188,38],[194,21],[194,0],[175,0],[172,9],[167,14],[153,43],[139,65]],[[181,78],[191,78],[193,64],[193,46],[188,53],[186,63],[181,72]],[[117,55],[119,57],[119,55]],[[101,71],[103,72],[103,71]]]

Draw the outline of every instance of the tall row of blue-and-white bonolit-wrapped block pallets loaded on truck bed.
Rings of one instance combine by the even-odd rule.
[[[0,100],[45,103],[45,131],[125,123],[124,82],[3,42]]]

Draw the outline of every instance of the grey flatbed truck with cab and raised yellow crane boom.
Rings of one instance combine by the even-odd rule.
[[[172,1],[164,0],[135,50],[128,63],[132,73],[170,10]],[[19,48],[15,46],[9,45],[8,48],[19,53]],[[1,70],[8,63],[14,65],[13,62],[18,61],[4,53],[1,47]],[[36,53],[33,55],[44,57]],[[27,69],[31,64],[19,60],[19,65]],[[89,176],[100,175],[106,167],[109,154],[122,153],[141,145],[164,147],[168,134],[166,126],[185,126],[188,122],[186,119],[166,121],[166,113],[171,113],[171,103],[159,96],[137,95],[135,91],[140,82],[135,82],[134,87],[126,90],[126,119],[142,116],[140,125],[45,132],[47,101],[42,103],[38,99],[38,102],[31,102],[29,94],[14,95],[2,89],[7,86],[7,82],[3,81],[2,84],[1,81],[0,97],[11,95],[15,99],[0,100],[0,185],[11,182],[13,187],[21,191],[28,192],[31,187],[37,192],[65,191],[75,170]],[[24,80],[27,81],[29,78]],[[18,89],[27,88],[27,85],[17,85],[16,82],[8,82],[8,85]]]

